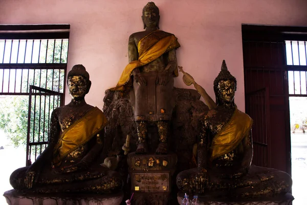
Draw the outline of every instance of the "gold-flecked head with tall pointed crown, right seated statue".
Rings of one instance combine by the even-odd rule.
[[[234,93],[236,91],[236,79],[227,69],[225,60],[223,60],[220,73],[213,83],[213,89],[216,98],[216,105],[233,105]]]

